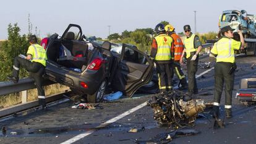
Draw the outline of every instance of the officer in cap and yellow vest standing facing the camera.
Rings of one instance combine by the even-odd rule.
[[[184,39],[184,50],[182,52],[180,62],[183,63],[182,58],[186,53],[187,77],[189,81],[188,95],[191,97],[193,94],[198,93],[197,80],[195,79],[195,73],[197,72],[198,57],[199,57],[198,54],[202,49],[202,43],[200,42],[199,37],[191,32],[191,28],[189,25],[184,25],[184,32],[185,32],[186,38]]]

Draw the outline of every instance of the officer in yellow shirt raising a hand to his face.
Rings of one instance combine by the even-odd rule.
[[[221,93],[225,83],[225,111],[226,117],[232,117],[232,91],[234,87],[234,70],[236,69],[234,49],[244,49],[244,37],[241,30],[237,30],[240,41],[233,39],[233,29],[230,26],[221,28],[221,35],[210,53],[216,56],[215,64],[215,91],[213,99],[214,117],[218,117]]]

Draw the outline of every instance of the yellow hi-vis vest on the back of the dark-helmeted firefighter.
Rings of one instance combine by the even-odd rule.
[[[155,37],[157,43],[156,61],[168,61],[171,59],[171,43],[173,38],[166,34],[161,34]]]

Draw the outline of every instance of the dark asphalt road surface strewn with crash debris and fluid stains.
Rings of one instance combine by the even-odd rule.
[[[211,61],[210,69],[205,62]],[[213,129],[214,119],[197,119],[194,130],[197,135],[176,137],[169,143],[256,143],[256,108],[245,106],[237,101],[236,91],[242,77],[255,73],[252,64],[256,57],[240,56],[236,58],[237,71],[233,91],[233,117],[224,119],[225,127]],[[214,59],[205,57],[198,66],[197,98],[213,100]],[[253,68],[253,69],[252,69]],[[186,67],[184,67],[186,72]],[[153,111],[145,103],[151,98],[148,94],[135,94],[134,98],[121,98],[111,103],[100,103],[102,109],[72,109],[73,103],[51,106],[46,110],[24,112],[6,121],[0,121],[0,143],[135,143],[135,140],[147,142],[160,133],[173,129],[160,127],[153,119]],[[221,98],[221,117],[224,117],[224,91]],[[138,132],[130,133],[135,128]]]

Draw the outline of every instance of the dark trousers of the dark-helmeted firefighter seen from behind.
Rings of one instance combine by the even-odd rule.
[[[160,84],[160,91],[169,91],[172,88],[172,65],[173,63],[168,64],[159,64],[156,62],[156,70],[159,74],[159,84]],[[163,88],[166,87],[166,88]],[[168,88],[169,87],[169,88]],[[170,88],[171,87],[171,88]]]

